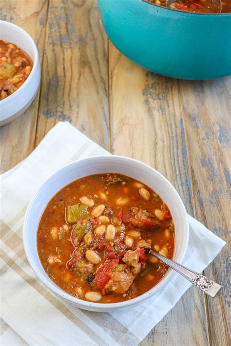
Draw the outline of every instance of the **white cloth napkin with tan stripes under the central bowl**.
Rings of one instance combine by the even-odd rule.
[[[1,176],[2,345],[136,346],[191,286],[175,274],[142,305],[98,313],[62,301],[35,276],[22,244],[28,202],[59,168],[94,155],[110,154],[69,123],[58,123],[27,159]],[[184,265],[201,273],[226,243],[191,216],[189,223]]]

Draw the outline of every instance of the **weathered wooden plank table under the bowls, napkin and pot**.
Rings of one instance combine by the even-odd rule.
[[[59,121],[114,154],[150,164],[189,214],[228,241],[230,82],[183,81],[135,65],[108,40],[96,0],[3,0],[0,18],[25,29],[39,48],[40,91],[0,128],[1,172],[26,158]],[[192,287],[142,346],[229,343],[226,246],[205,274],[224,285],[212,300]]]

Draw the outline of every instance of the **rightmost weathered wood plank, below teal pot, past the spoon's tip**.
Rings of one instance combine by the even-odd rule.
[[[208,299],[212,345],[230,344],[230,191],[231,191],[231,78],[180,81],[184,123],[197,219],[226,247],[205,270],[223,285],[216,299]]]

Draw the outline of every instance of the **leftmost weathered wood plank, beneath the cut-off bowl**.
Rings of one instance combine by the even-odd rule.
[[[0,19],[19,25],[35,40],[39,49],[40,63],[42,63],[47,7],[47,0],[3,0],[0,6]],[[10,124],[0,127],[1,173],[25,159],[34,149],[38,107],[39,93],[23,115]]]

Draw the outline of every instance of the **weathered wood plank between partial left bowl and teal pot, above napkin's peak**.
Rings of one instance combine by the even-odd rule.
[[[96,0],[50,0],[36,145],[70,121],[109,148],[107,37]]]

